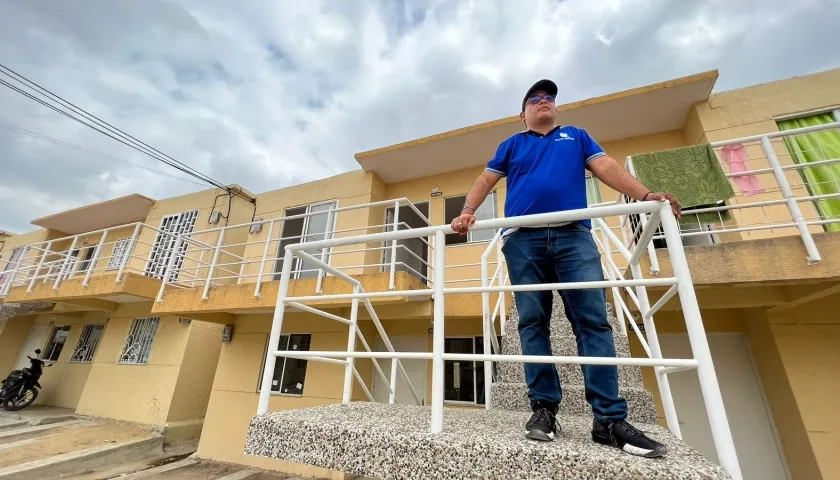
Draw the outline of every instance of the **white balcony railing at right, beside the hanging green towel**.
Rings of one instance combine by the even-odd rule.
[[[679,224],[679,235],[684,245],[717,243],[720,236],[725,234],[737,235],[738,239],[759,239],[779,235],[799,235],[807,252],[807,262],[817,263],[821,260],[820,252],[814,243],[813,234],[822,230],[822,226],[840,224],[840,217],[820,215],[816,205],[821,201],[840,198],[840,178],[827,179],[823,183],[836,187],[835,193],[811,194],[810,189],[817,185],[804,179],[804,172],[808,169],[821,168],[827,165],[840,164],[840,158],[830,158],[825,151],[819,150],[826,160],[796,163],[785,145],[787,137],[838,129],[840,122],[783,130],[749,137],[735,138],[711,145],[723,159],[723,149],[733,148],[747,155],[745,160],[751,165],[734,168],[736,162],[720,160],[727,173],[736,195],[726,205],[692,208],[683,212],[686,220],[696,219],[696,227],[683,221]],[[840,146],[838,146],[840,148]],[[817,150],[815,150],[817,151]],[[803,151],[807,153],[807,151]],[[626,167],[635,175],[632,156],[627,157]],[[796,172],[795,175],[788,175]],[[749,179],[750,184],[744,184],[742,179]],[[739,182],[740,181],[740,182]],[[740,183],[740,184],[739,184]],[[619,196],[619,203],[625,202],[626,197]],[[709,221],[708,214],[717,214],[718,219]],[[701,214],[703,218],[701,218]],[[730,220],[725,216],[732,216]],[[638,217],[624,217],[621,219],[621,231],[625,246],[636,243],[645,223],[645,214]],[[665,239],[664,232],[658,230],[653,239],[657,243]],[[658,262],[654,245],[648,249],[652,271],[658,272]]]

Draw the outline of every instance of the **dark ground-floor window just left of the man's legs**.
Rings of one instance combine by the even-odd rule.
[[[501,343],[502,339],[499,338]],[[484,337],[452,337],[444,340],[445,353],[484,353]],[[495,372],[495,363],[493,364]],[[494,373],[495,375],[495,373]],[[446,360],[444,396],[447,402],[484,405],[484,363]]]

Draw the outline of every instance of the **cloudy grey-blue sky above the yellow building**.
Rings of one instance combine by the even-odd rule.
[[[0,63],[263,192],[358,168],[358,151],[516,114],[542,77],[569,102],[714,68],[717,91],[835,68],[838,3],[0,0]],[[183,177],[0,86],[0,229],[203,188]]]

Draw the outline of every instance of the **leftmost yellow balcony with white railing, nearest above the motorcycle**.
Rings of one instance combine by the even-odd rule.
[[[176,240],[173,232],[132,223],[25,245],[0,263],[0,298],[101,310],[149,301],[167,262],[184,261],[172,255]]]

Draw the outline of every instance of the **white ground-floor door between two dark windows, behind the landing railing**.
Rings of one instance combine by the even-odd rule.
[[[397,336],[388,338],[391,340],[391,344],[394,346],[394,350],[398,352],[426,351],[425,336]],[[378,338],[376,340],[375,350],[377,352],[384,352],[387,350],[385,348],[385,344],[382,343],[381,338]],[[375,361],[379,362],[379,365],[382,367],[382,371],[385,373],[385,376],[388,377],[388,379],[390,380],[391,360],[387,358],[380,358]],[[408,378],[411,379],[411,385],[414,387],[414,391],[417,392],[417,396],[419,396],[420,400],[422,400],[425,403],[426,361],[401,360],[400,362],[402,363],[403,368],[405,368],[405,373],[408,374]],[[373,399],[377,402],[388,403],[388,394],[388,387],[385,385],[385,382],[382,381],[382,377],[379,376],[379,372],[376,371],[376,368],[373,368]],[[409,390],[408,388],[408,383],[406,383],[405,377],[403,377],[399,373],[397,374],[397,403],[403,405],[417,405],[417,401],[411,394],[411,390]]]

